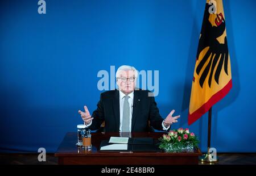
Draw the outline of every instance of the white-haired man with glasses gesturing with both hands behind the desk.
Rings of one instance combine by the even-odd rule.
[[[174,110],[163,119],[155,98],[148,90],[135,89],[138,71],[133,66],[120,66],[115,75],[119,90],[110,90],[101,94],[97,110],[90,115],[79,110],[84,124],[96,130],[105,122],[106,132],[145,132],[150,125],[158,130],[168,130],[180,117],[172,115]]]

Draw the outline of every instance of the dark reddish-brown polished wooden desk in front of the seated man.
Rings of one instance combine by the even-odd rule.
[[[163,133],[145,132],[131,133],[131,137],[153,137],[158,139]],[[98,152],[102,140],[119,133],[92,133],[93,148],[90,151],[76,146],[77,133],[67,133],[55,153],[59,164],[86,164],[86,165],[171,165],[171,164],[198,164],[200,150],[194,153],[165,153],[165,152]]]

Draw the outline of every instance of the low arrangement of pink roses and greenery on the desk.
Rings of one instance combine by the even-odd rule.
[[[198,148],[199,144],[195,133],[189,132],[188,128],[172,130],[160,137],[159,141],[159,148],[166,152],[193,152],[193,149]]]

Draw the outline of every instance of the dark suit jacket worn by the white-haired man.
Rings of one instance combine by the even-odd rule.
[[[133,116],[131,120],[131,132],[148,131],[148,120],[150,125],[158,130],[163,130],[163,118],[159,114],[154,97],[148,97],[148,90],[134,90]],[[105,121],[106,132],[119,132],[120,110],[119,91],[110,90],[101,94],[97,104],[97,110],[92,114],[93,120],[91,130],[100,128]]]

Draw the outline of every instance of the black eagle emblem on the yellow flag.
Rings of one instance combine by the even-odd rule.
[[[224,66],[225,73],[228,75],[228,59],[229,59],[228,42],[226,40],[226,36],[225,36],[224,44],[219,43],[219,41],[217,40],[217,37],[220,37],[225,31],[225,28],[226,28],[225,19],[222,13],[216,14],[217,16],[214,22],[217,25],[217,27],[212,26],[212,23],[210,23],[209,21],[210,14],[208,10],[210,6],[211,5],[209,5],[208,3],[206,3],[205,5],[204,19],[203,19],[203,24],[201,28],[201,37],[199,40],[199,47],[197,49],[197,54],[196,54],[196,59],[198,60],[201,51],[203,51],[203,49],[205,49],[206,47],[209,47],[207,53],[205,53],[204,57],[202,58],[202,60],[200,61],[199,65],[197,65],[197,68],[196,68],[197,75],[199,75],[200,72],[203,72],[201,74],[201,77],[199,78],[199,83],[202,88],[208,74],[210,75],[207,81],[210,87],[213,79],[214,68],[217,67],[216,72],[214,73],[214,80],[217,83],[219,81],[221,69],[223,66]],[[207,62],[208,58],[210,59],[209,62]],[[202,70],[205,64],[207,65],[205,66],[205,69]],[[195,77],[193,81],[195,81]]]

